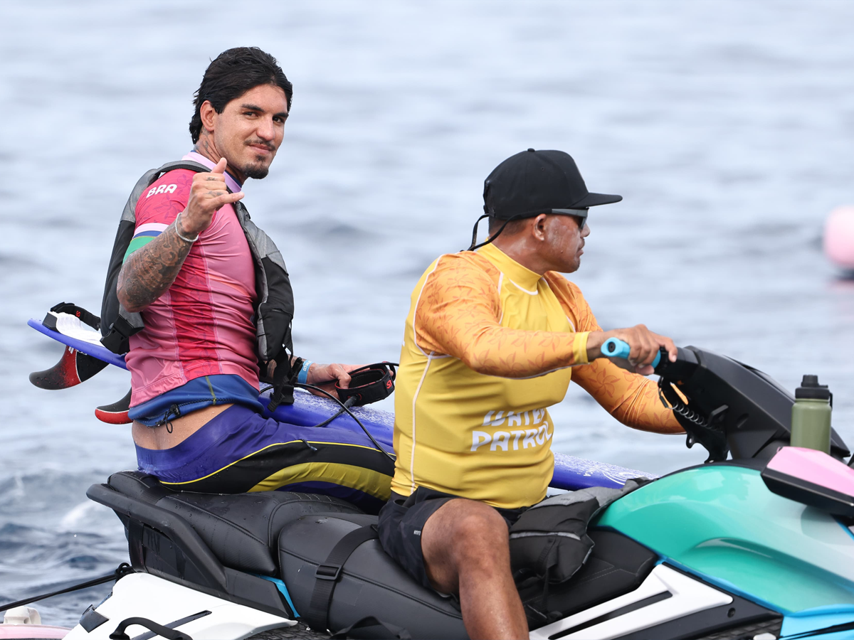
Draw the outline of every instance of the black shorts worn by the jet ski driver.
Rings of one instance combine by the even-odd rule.
[[[379,512],[379,541],[389,556],[393,557],[412,578],[432,589],[424,554],[421,552],[421,531],[436,509],[448,500],[458,499],[450,493],[437,492],[419,486],[409,497],[391,492],[389,502]],[[510,527],[518,521],[527,507],[520,509],[494,508]]]

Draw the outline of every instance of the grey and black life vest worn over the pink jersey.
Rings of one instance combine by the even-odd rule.
[[[113,253],[110,256],[107,271],[107,282],[104,283],[104,295],[101,304],[101,342],[114,353],[126,353],[130,350],[130,337],[145,328],[143,317],[139,313],[127,311],[119,302],[116,287],[119,282],[119,272],[125,259],[128,245],[133,238],[137,226],[137,201],[146,189],[164,173],[175,169],[189,169],[193,172],[209,172],[207,166],[190,160],[167,162],[165,165],[151,169],[137,180],[130,197],[127,199],[124,211],[121,213],[119,230],[113,243]],[[252,253],[255,270],[255,304],[254,323],[257,338],[258,359],[261,372],[266,370],[266,364],[276,363],[273,383],[277,385],[274,393],[276,404],[293,403],[292,387],[283,382],[290,380],[290,359],[294,352],[291,337],[291,321],[294,318],[294,292],[290,287],[288,269],[284,265],[282,253],[276,244],[260,230],[251,218],[242,201],[232,204],[237,221],[240,223],[249,251]],[[290,402],[289,402],[290,400]]]

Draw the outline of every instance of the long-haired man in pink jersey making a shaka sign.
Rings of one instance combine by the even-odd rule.
[[[140,178],[122,215],[103,342],[129,348],[142,471],[186,491],[325,492],[376,513],[392,463],[366,436],[260,415],[260,375],[272,375],[280,399],[288,381],[347,387],[354,369],[293,357],[284,261],[240,202],[246,179],[269,171],[291,96],[260,49],[228,49],[210,63],[190,121],[193,150]]]

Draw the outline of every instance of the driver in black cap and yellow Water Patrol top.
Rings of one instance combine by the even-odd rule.
[[[470,637],[521,638],[508,526],[546,497],[547,407],[572,380],[629,427],[683,433],[644,377],[660,347],[671,361],[677,352],[642,324],[603,331],[559,275],[578,269],[589,208],[622,200],[588,193],[570,155],[515,154],[489,174],[483,198],[489,240],[440,256],[412,292],[379,536],[423,585],[459,595]],[[631,346],[634,372],[600,358],[611,337]]]

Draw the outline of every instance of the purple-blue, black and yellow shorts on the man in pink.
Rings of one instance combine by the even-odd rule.
[[[234,404],[171,449],[137,446],[139,470],[199,493],[323,493],[376,514],[389,499],[394,461],[364,433],[300,427]]]

